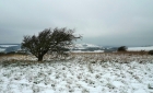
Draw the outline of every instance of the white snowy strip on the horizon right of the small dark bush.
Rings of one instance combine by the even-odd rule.
[[[150,51],[150,50],[153,50],[153,46],[148,46],[148,47],[128,47],[128,50],[130,50],[130,51],[140,51],[140,50]]]

